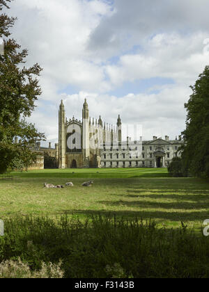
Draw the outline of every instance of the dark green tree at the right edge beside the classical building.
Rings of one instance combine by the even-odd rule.
[[[196,177],[209,177],[209,66],[192,88],[183,131],[183,167]]]

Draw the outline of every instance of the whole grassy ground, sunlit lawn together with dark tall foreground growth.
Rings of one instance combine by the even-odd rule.
[[[75,186],[43,188],[67,181]],[[0,177],[0,202],[0,278],[54,277],[42,261],[67,278],[209,277],[206,179],[153,168],[13,172]]]

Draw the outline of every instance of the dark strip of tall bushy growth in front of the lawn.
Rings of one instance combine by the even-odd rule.
[[[111,215],[5,220],[1,261],[2,277],[209,277],[208,238]]]

